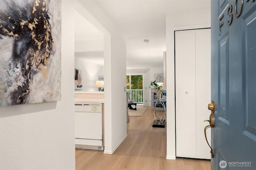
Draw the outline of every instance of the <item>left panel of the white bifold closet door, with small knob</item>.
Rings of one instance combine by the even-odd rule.
[[[195,31],[176,31],[176,156],[178,157],[196,157],[195,62]]]

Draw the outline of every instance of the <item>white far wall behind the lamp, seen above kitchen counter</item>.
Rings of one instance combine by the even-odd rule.
[[[98,91],[95,82],[99,75],[104,76],[104,66],[90,62],[90,59],[75,57],[75,68],[82,69],[82,90],[75,91]]]

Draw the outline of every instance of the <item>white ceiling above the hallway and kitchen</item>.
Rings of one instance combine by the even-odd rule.
[[[163,52],[166,51],[166,12],[177,13],[174,17],[178,17],[178,14],[183,11],[210,10],[210,0],[95,1],[126,38],[126,69],[128,70],[163,66]],[[86,25],[90,29],[84,32],[81,28],[85,28]],[[75,40],[86,38],[91,40],[93,37],[99,39],[103,36],[85,19],[84,22],[75,21]],[[144,39],[148,39],[149,42],[145,43]]]

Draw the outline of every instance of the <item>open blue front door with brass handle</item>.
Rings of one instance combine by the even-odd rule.
[[[211,169],[256,170],[256,1],[211,8]]]

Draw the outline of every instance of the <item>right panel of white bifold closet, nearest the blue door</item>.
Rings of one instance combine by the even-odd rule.
[[[209,125],[211,102],[211,42],[210,29],[196,30],[196,158],[210,159],[210,149],[204,136],[204,127]],[[207,139],[211,142],[211,130]]]

